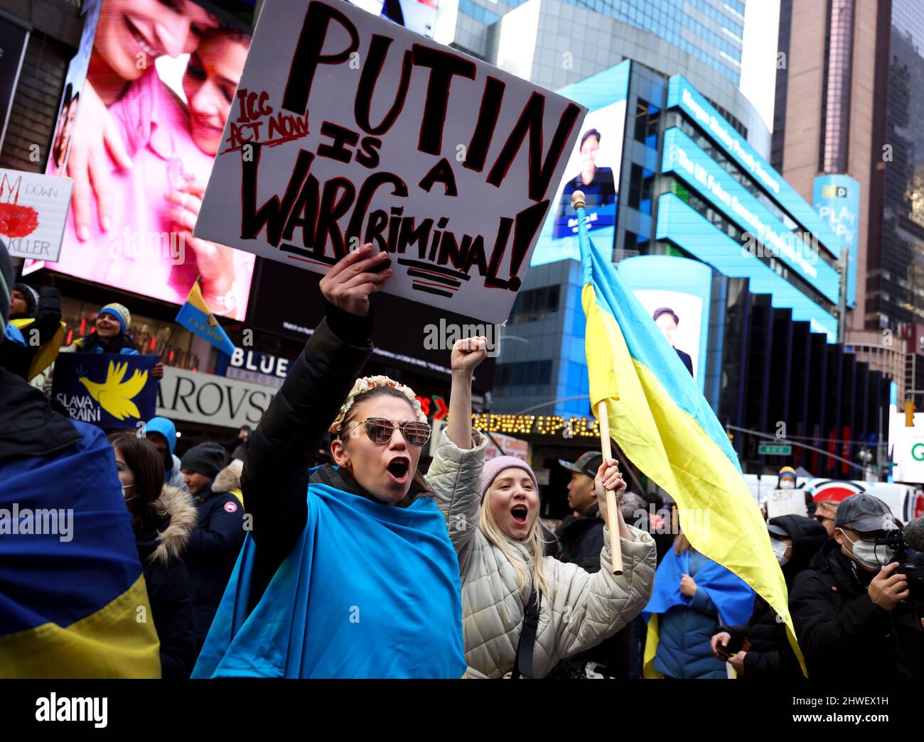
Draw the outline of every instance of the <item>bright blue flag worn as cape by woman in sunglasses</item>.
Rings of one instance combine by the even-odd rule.
[[[193,677],[461,677],[456,551],[430,497],[308,488],[308,521],[248,616],[248,534]]]

